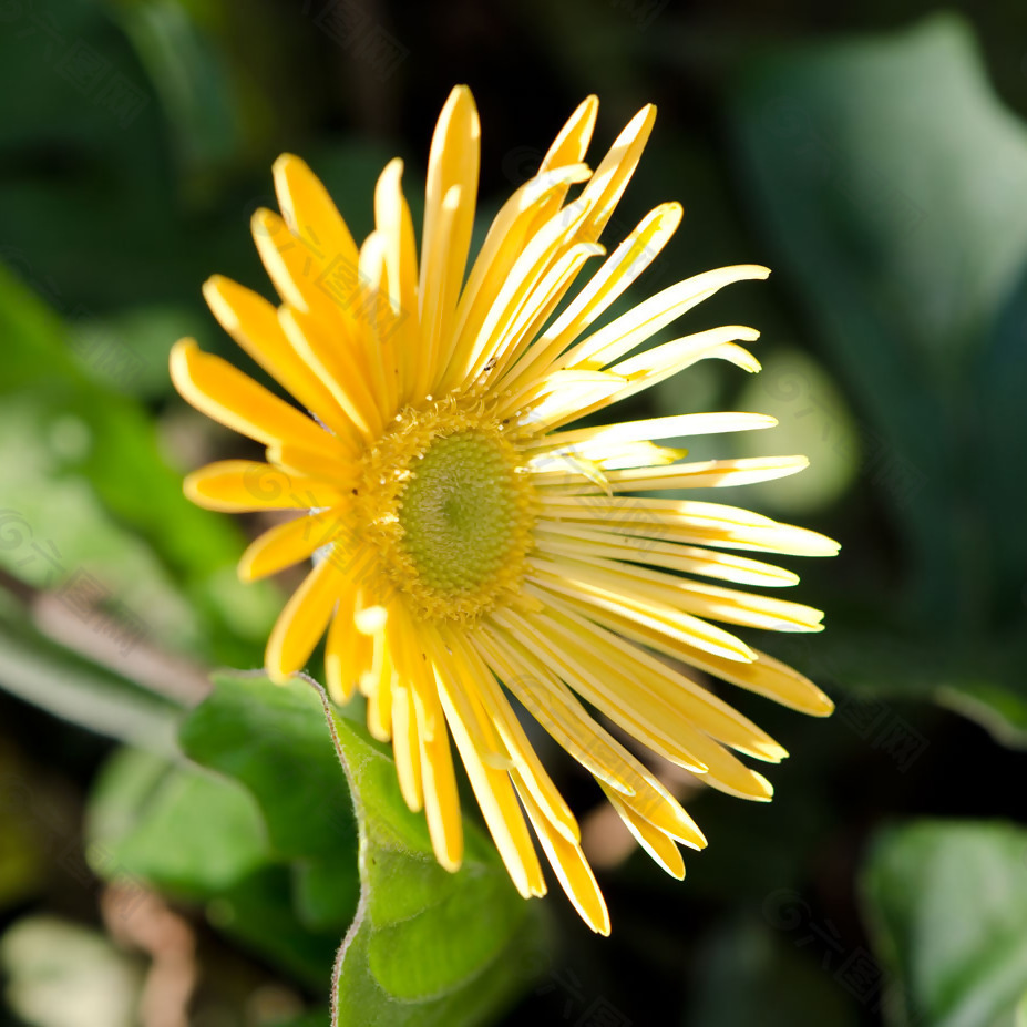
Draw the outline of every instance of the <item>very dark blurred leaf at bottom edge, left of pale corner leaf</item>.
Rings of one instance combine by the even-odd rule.
[[[851,1002],[833,976],[764,924],[739,921],[706,938],[691,968],[685,1027],[851,1027]]]

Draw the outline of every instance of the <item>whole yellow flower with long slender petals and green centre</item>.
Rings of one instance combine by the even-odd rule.
[[[301,669],[327,630],[331,696],[367,697],[368,727],[391,739],[399,784],[423,808],[439,862],[463,840],[450,748],[524,896],[546,886],[524,814],[586,923],[609,932],[577,821],[542,767],[511,696],[598,782],[625,824],[676,877],[677,843],[706,841],[653,771],[593,711],[713,788],[767,800],[771,787],[729,750],[787,753],[667,661],[824,716],[811,681],[710,622],[815,631],[808,606],[741,592],[795,575],[721,552],[832,555],[823,535],[735,506],[653,491],[766,481],[802,456],[679,462],[653,440],[768,428],[753,413],[696,413],[567,428],[698,360],[749,371],[737,326],[638,351],[721,286],[764,278],[742,265],[697,275],[596,327],[681,219],[665,203],[609,256],[598,244],[649,136],[641,110],[593,172],[589,96],[538,173],[506,202],[469,265],[480,127],[453,90],[431,145],[421,258],[392,161],[374,191],[376,228],[357,247],[298,157],[275,164],[283,218],[254,216],[275,307],[220,276],[204,294],[225,330],[304,408],[290,405],[191,339],[171,370],[198,410],[267,448],[267,463],[191,474],[213,510],[306,515],[245,552],[246,581],[314,557],[271,631],[276,680]],[[575,186],[583,186],[568,201]],[[585,265],[605,257],[572,299]],[[635,351],[634,356],[629,356]],[[310,413],[306,413],[309,411]]]

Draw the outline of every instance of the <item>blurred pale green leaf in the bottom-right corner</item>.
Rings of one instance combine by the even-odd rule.
[[[1027,998],[1027,830],[916,821],[882,832],[863,870],[875,949],[897,977],[894,1027],[1014,1027]]]

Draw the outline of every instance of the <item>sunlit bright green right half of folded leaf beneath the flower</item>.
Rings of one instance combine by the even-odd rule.
[[[432,855],[423,817],[400,794],[388,750],[321,694],[360,823],[361,898],[336,965],[337,1027],[484,1023],[528,982],[543,942],[494,846],[464,822],[455,874]]]

